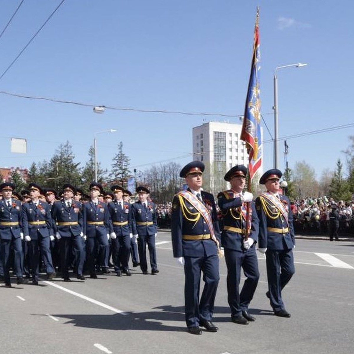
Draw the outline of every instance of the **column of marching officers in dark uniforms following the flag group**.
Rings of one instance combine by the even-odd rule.
[[[157,220],[149,189],[138,187],[137,202],[130,202],[131,193],[119,185],[104,192],[102,185],[90,184],[89,195],[74,185],[56,190],[30,183],[16,192],[10,182],[0,184],[0,277],[11,287],[10,269],[17,284],[38,285],[40,273],[47,279],[71,277],[85,280],[85,274],[111,273],[131,276],[140,266],[148,274],[146,246],[151,274],[159,273],[155,237]],[[112,263],[110,260],[112,259]],[[139,260],[140,259],[140,260]]]

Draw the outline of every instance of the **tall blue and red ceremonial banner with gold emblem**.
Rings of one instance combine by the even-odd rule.
[[[253,41],[253,57],[251,64],[251,75],[248,84],[245,115],[241,130],[241,140],[246,142],[249,154],[249,174],[253,178],[262,164],[262,135],[261,135],[261,99],[259,98],[259,77],[258,71],[261,68],[261,53],[259,48],[259,7],[257,8],[255,37]]]

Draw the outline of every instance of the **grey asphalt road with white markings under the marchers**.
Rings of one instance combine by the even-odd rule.
[[[258,253],[261,278],[250,305],[257,320],[249,325],[230,321],[221,259],[213,317],[219,332],[202,336],[185,327],[184,273],[172,257],[171,234],[160,232],[156,245],[157,275],[131,268],[131,277],[2,284],[0,353],[354,352],[354,242],[297,240],[296,273],[283,291],[290,319],[273,315]]]

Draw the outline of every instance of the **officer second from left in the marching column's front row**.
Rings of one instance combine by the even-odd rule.
[[[47,278],[53,279],[56,276],[50,253],[50,240],[54,240],[53,220],[48,203],[39,200],[41,194],[43,194],[41,187],[36,183],[30,183],[31,201],[22,204],[23,234],[25,241],[28,242],[34,285],[38,285],[39,278],[39,247]]]

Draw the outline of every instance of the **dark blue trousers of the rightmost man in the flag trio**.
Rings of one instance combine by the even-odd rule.
[[[265,252],[270,306],[274,311],[284,310],[281,290],[295,273],[292,249]]]

